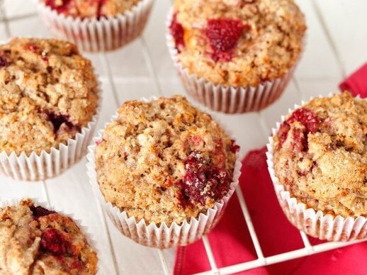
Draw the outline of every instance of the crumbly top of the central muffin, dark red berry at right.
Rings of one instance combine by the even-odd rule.
[[[225,196],[238,148],[184,97],[128,101],[96,147],[98,184],[136,220],[179,224]]]

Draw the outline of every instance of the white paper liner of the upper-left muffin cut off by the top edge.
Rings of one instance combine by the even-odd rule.
[[[79,49],[102,52],[123,47],[144,30],[154,0],[141,0],[131,11],[108,18],[73,18],[35,0],[38,12],[52,35],[69,40]]]

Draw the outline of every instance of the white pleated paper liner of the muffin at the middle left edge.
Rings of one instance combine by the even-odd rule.
[[[86,148],[96,130],[102,97],[101,84],[98,83],[96,114],[75,138],[67,140],[67,144],[61,143],[58,148],[52,147],[50,152],[43,150],[40,154],[32,152],[26,155],[22,152],[16,155],[12,152],[8,155],[5,151],[0,152],[0,174],[21,181],[40,181],[55,177],[79,162],[86,155]]]

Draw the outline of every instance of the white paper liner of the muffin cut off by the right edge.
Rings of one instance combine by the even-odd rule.
[[[301,103],[302,106],[304,104],[305,102]],[[290,110],[289,113],[293,113],[293,111],[299,107],[300,106],[295,105],[295,108]],[[283,123],[285,119],[286,117],[282,116],[281,123]],[[278,133],[281,123],[276,123],[276,128],[272,129],[273,136]],[[297,198],[292,197],[290,192],[286,191],[285,186],[278,180],[274,170],[273,136],[269,137],[269,143],[266,145],[268,148],[268,152],[266,152],[266,162],[276,191],[276,196],[290,223],[299,230],[304,231],[307,235],[318,237],[320,240],[349,241],[367,238],[366,217],[344,218],[341,215],[334,216],[324,213],[323,211],[317,211],[314,208],[306,206],[305,203],[298,202]]]

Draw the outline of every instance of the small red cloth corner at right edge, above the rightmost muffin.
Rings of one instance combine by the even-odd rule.
[[[367,97],[367,63],[339,84],[341,91],[348,90],[354,96]]]

